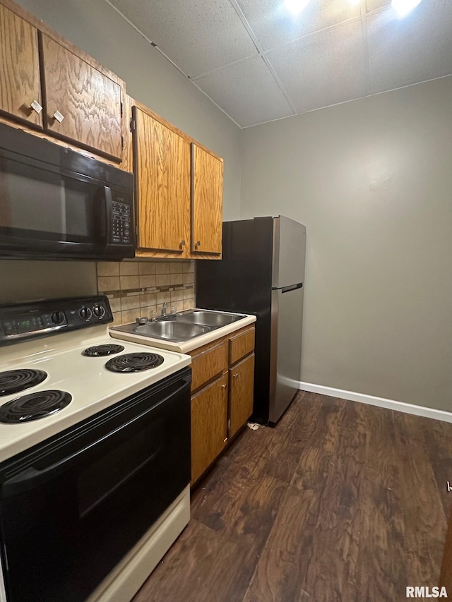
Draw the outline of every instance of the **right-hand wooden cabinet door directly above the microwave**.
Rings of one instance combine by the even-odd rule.
[[[121,86],[42,35],[47,131],[121,159]]]

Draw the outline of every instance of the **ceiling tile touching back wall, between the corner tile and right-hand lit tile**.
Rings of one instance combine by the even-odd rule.
[[[300,113],[366,93],[360,21],[292,42],[267,56]]]

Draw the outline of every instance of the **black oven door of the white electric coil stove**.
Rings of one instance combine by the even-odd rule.
[[[8,602],[81,602],[190,481],[190,368],[0,465]]]

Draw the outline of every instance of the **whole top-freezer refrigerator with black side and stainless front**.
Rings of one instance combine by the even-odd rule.
[[[274,425],[297,392],[306,227],[293,219],[223,222],[222,259],[196,262],[196,305],[256,315],[252,419]]]

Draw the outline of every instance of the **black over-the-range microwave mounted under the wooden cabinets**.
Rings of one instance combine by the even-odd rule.
[[[133,174],[0,124],[0,258],[133,258]]]

